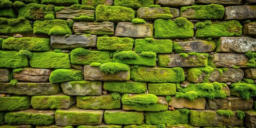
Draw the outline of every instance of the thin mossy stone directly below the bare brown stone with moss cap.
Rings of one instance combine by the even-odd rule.
[[[147,84],[142,82],[104,82],[103,89],[119,93],[143,93],[147,91]]]

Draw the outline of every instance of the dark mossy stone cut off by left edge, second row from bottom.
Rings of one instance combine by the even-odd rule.
[[[14,111],[29,109],[30,97],[14,95],[12,97],[0,97],[0,111]]]

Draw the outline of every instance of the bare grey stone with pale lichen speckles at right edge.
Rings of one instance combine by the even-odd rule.
[[[255,24],[256,25],[256,24]],[[216,52],[246,53],[256,51],[256,39],[251,37],[220,37]]]

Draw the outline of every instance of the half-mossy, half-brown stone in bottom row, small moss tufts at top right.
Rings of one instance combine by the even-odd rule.
[[[243,126],[243,119],[234,116],[219,116],[214,110],[190,110],[190,123],[193,126]]]

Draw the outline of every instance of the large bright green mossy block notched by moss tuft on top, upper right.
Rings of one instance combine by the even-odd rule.
[[[188,21],[178,26],[172,20],[156,19],[154,22],[155,38],[191,38],[194,35],[193,23]]]

